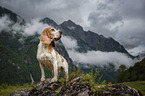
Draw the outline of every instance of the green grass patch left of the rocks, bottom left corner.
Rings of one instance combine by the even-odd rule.
[[[20,89],[23,89],[23,88],[32,89],[33,85],[24,84],[24,85],[11,86],[11,85],[7,85],[7,84],[2,84],[0,86],[0,96],[8,96],[10,93],[17,91],[17,90],[20,90]]]

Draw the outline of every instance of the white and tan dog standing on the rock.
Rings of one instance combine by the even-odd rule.
[[[68,63],[66,59],[55,51],[55,42],[60,40],[61,31],[53,27],[47,27],[43,30],[40,36],[40,43],[37,50],[37,59],[41,69],[41,81],[45,80],[44,67],[52,70],[54,77],[51,82],[56,82],[59,73],[64,72],[68,79]]]

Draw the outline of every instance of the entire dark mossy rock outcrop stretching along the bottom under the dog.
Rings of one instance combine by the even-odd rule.
[[[102,86],[103,87],[103,86]],[[99,92],[99,91],[98,91]],[[100,93],[93,93],[88,81],[84,81],[83,77],[77,77],[73,80],[62,84],[60,81],[51,82],[47,79],[38,82],[34,88],[21,89],[11,93],[9,96],[143,96],[138,90],[129,86],[116,84],[104,86]]]

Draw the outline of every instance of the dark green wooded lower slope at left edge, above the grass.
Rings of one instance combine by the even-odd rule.
[[[2,45],[0,45],[0,51],[0,77],[2,77],[0,84],[8,82],[12,84],[14,82],[17,82],[17,84],[30,82],[28,68],[23,58]]]

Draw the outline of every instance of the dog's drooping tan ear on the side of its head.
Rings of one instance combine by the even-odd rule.
[[[44,30],[40,36],[40,40],[41,42],[45,43],[45,44],[50,44],[51,43],[51,39],[48,37],[48,30]]]

